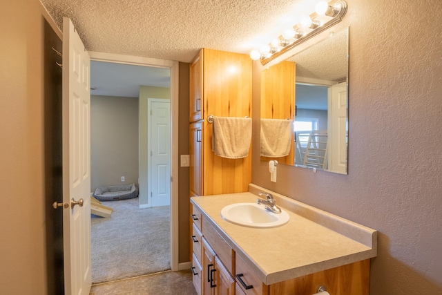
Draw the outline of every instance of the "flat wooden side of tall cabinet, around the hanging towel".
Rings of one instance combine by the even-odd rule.
[[[248,55],[204,48],[204,196],[249,189],[251,152],[240,159],[215,155],[211,146],[213,125],[206,118],[251,117],[251,68]]]

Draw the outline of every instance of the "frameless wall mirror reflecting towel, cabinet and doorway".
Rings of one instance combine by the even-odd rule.
[[[347,174],[348,39],[331,33],[262,71],[262,161]]]

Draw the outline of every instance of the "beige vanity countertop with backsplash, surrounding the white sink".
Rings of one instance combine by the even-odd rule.
[[[376,256],[374,229],[253,184],[249,191],[272,193],[276,205],[289,213],[289,222],[260,229],[222,218],[221,209],[229,204],[256,202],[252,192],[192,197],[191,202],[266,285]]]

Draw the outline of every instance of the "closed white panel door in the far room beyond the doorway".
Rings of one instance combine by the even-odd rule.
[[[148,99],[148,189],[151,207],[171,204],[171,107],[169,100]],[[149,173],[150,172],[150,173]]]

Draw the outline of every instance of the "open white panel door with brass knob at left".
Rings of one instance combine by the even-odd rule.
[[[63,19],[63,238],[65,294],[89,294],[90,58]],[[75,202],[81,202],[75,204]]]

